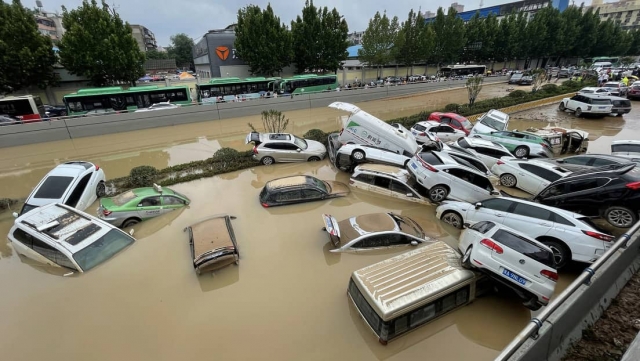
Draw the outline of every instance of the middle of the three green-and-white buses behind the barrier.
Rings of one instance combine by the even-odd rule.
[[[269,84],[280,78],[217,78],[211,79],[207,84],[196,85],[198,103],[216,103],[222,100],[235,100],[236,95],[243,95],[243,98],[259,98],[261,94],[273,91]]]

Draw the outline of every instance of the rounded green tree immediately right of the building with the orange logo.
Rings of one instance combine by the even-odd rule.
[[[238,10],[235,47],[251,74],[272,76],[291,63],[291,33],[273,13],[249,5]]]

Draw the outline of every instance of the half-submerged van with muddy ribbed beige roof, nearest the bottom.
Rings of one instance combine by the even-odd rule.
[[[460,258],[446,243],[431,243],[353,272],[347,296],[386,345],[472,302],[477,286],[487,288]]]

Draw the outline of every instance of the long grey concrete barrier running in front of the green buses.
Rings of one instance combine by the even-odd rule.
[[[504,82],[504,77],[486,78],[486,84]],[[464,86],[464,81],[446,81],[369,89],[345,90],[254,101],[185,106],[154,112],[75,117],[0,127],[0,148],[57,140],[128,132],[172,125],[229,119],[260,114],[263,110],[292,111],[322,108],[335,101],[358,103]]]

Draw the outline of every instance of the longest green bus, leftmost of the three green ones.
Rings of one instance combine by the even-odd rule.
[[[91,110],[135,111],[152,104],[171,102],[191,104],[191,93],[186,85],[159,87],[157,85],[87,88],[67,94],[63,98],[69,115],[83,115]]]

